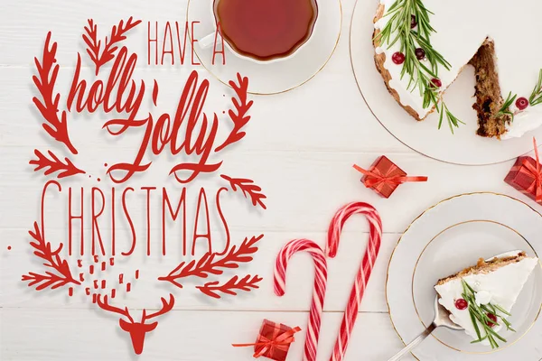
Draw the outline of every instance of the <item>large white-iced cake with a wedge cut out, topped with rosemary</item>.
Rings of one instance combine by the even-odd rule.
[[[542,124],[541,11],[539,0],[380,0],[375,63],[409,115],[436,110],[452,129],[469,119],[453,116],[442,95],[472,65],[477,133],[519,137]]]

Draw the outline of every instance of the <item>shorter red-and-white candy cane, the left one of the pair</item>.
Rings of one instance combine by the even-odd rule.
[[[313,304],[309,315],[309,326],[304,345],[304,360],[315,361],[320,336],[320,323],[322,321],[323,299],[327,283],[327,262],[320,245],[308,239],[294,239],[281,249],[276,256],[275,264],[275,293],[277,296],[285,294],[286,267],[288,260],[296,252],[306,251],[313,256],[315,274],[313,288]]]

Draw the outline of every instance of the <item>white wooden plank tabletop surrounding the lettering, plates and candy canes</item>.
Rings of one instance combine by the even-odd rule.
[[[128,15],[145,22],[174,21],[183,19],[186,3],[172,0],[2,1],[1,360],[250,360],[250,347],[234,348],[230,344],[253,342],[262,319],[302,328],[306,325],[312,262],[305,255],[293,260],[288,273],[288,290],[285,297],[279,299],[272,286],[273,263],[278,250],[288,240],[301,236],[323,245],[333,212],[352,200],[367,201],[378,208],[385,235],[346,359],[386,360],[397,352],[402,343],[388,316],[385,282],[389,257],[410,222],[437,201],[464,192],[500,192],[538,206],[503,182],[512,162],[483,167],[437,162],[398,142],[378,123],[360,96],[350,67],[349,32],[354,3],[354,0],[342,1],[341,41],[321,73],[290,92],[253,97],[255,105],[248,135],[229,153],[229,163],[224,165],[232,173],[237,171],[239,176],[257,180],[266,192],[268,209],[259,217],[232,214],[229,221],[234,239],[258,232],[266,235],[255,261],[248,266],[251,272],[264,277],[261,289],[221,301],[205,300],[196,292],[184,294],[173,290],[178,296],[175,309],[160,319],[158,328],[147,336],[144,354],[135,357],[126,333],[117,327],[117,318],[99,313],[78,299],[69,300],[65,292],[38,294],[20,281],[21,274],[39,265],[31,260],[26,233],[39,215],[42,177],[33,174],[28,160],[34,148],[50,144],[42,135],[40,118],[32,105],[35,95],[31,80],[33,57],[41,53],[46,32],[52,30],[60,43],[57,59],[61,64],[68,64],[62,66],[68,70],[59,80],[61,91],[65,93],[69,87],[70,67],[75,63],[75,51],[83,52],[80,31],[87,18],[103,23],[102,29],[110,29],[111,24]],[[143,36],[139,36],[141,39]],[[144,45],[143,42],[134,44],[141,49]],[[162,91],[173,93],[164,97],[171,97],[173,103],[180,89],[167,83],[170,74],[181,74],[179,79],[183,79],[186,72],[182,73],[180,67],[142,65],[136,69],[135,78],[161,79]],[[206,75],[204,69],[201,75]],[[226,91],[208,77],[211,87]],[[171,110],[172,106],[165,108]],[[79,116],[78,121],[83,122],[83,119]],[[110,149],[98,144],[92,152],[89,159],[92,156],[104,158]],[[133,153],[129,144],[119,148],[119,152]],[[390,199],[379,198],[360,184],[360,174],[351,165],[355,162],[369,166],[381,154],[388,155],[409,174],[427,175],[429,181],[402,185]],[[244,203],[239,202],[236,207],[241,205]],[[338,256],[329,261],[329,290],[319,360],[329,359],[331,355],[353,275],[367,242],[366,232],[363,219],[351,220],[345,228]],[[50,236],[61,235],[61,230],[51,229],[49,233]],[[8,245],[12,247],[9,251]],[[145,289],[139,291],[138,298],[128,301],[131,309],[157,306],[158,295]],[[304,332],[296,339],[288,360],[301,359],[303,345]]]

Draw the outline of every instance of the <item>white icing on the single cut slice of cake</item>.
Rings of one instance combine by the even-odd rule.
[[[507,254],[496,255],[495,257],[518,255],[518,253],[518,251],[514,251]],[[526,257],[518,263],[501,266],[491,273],[467,275],[463,277],[463,280],[472,287],[474,292],[476,292],[475,298],[477,303],[480,301],[481,304],[487,304],[491,301],[492,304],[497,304],[502,309],[511,313],[512,306],[516,303],[519,293],[523,289],[523,285],[527,282],[528,276],[533,272],[537,264],[537,258]],[[457,325],[463,327],[469,336],[477,339],[478,337],[474,326],[472,325],[469,310],[458,310],[455,307],[455,301],[463,298],[462,279],[454,278],[444,284],[436,285],[435,290],[441,297],[439,302],[446,310],[450,311],[450,319]],[[496,332],[502,328],[502,322],[500,323],[501,325],[493,328]],[[481,329],[481,325],[479,326]],[[482,343],[489,345],[487,340]]]

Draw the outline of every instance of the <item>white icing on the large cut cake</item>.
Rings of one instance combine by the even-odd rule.
[[[396,0],[380,0],[385,6],[384,12]],[[424,0],[425,7],[434,14],[429,14],[431,26],[436,32],[431,34],[431,43],[444,59],[451,64],[451,69],[439,66],[438,78],[442,81],[443,91],[448,88],[461,69],[476,54],[481,44],[490,38],[495,42],[495,52],[499,69],[500,88],[503,97],[509,92],[518,97],[529,97],[542,68],[542,51],[539,49],[542,22],[542,2],[539,0]],[[388,23],[389,16],[384,16],[375,23],[375,29],[382,29]],[[521,19],[518,21],[518,19]],[[392,35],[393,39],[393,35]],[[388,49],[388,44],[381,44],[376,53],[385,53],[384,68],[388,69],[391,80],[389,88],[397,91],[402,106],[410,106],[420,118],[431,111],[431,106],[424,108],[423,95],[419,89],[407,89],[409,76],[401,79],[403,65],[397,65],[392,55],[400,50],[399,42]],[[465,101],[472,101],[472,92],[465,94]],[[468,98],[467,98],[468,97]],[[453,109],[450,109],[453,112]],[[521,136],[542,124],[542,105],[528,106],[519,113],[515,121],[507,127],[509,132],[503,139]]]

